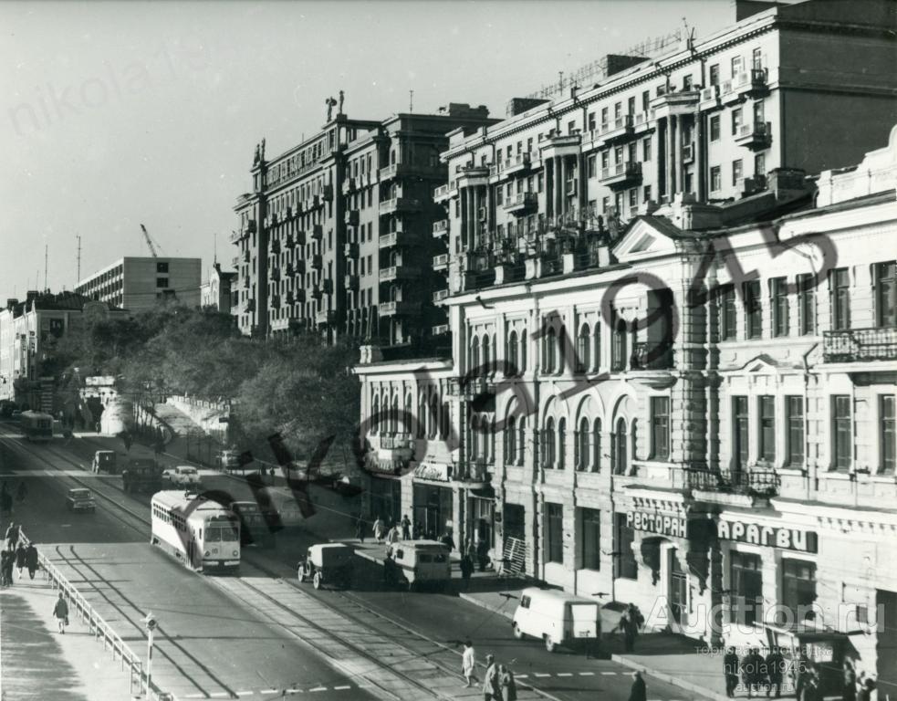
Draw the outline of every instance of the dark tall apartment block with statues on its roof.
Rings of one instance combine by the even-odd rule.
[[[401,344],[444,323],[433,306],[433,190],[446,179],[447,132],[493,124],[485,107],[351,120],[267,160],[256,150],[253,192],[232,237],[239,328],[255,335],[320,330]]]

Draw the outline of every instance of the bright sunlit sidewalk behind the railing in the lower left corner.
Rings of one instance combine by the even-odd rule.
[[[38,572],[0,590],[0,698],[3,701],[129,699],[130,674],[70,615],[57,632],[57,591]]]

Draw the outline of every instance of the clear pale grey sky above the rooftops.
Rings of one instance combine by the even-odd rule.
[[[504,116],[602,56],[683,26],[734,22],[730,0],[0,3],[0,300],[73,288],[121,256],[214,250],[230,267],[236,197],[325,120],[449,101]],[[215,246],[215,239],[217,245]],[[45,286],[45,246],[47,284]]]

